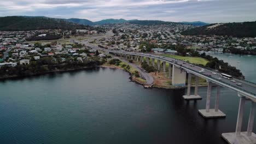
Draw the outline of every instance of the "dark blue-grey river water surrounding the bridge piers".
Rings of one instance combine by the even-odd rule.
[[[226,143],[220,136],[235,131],[237,94],[222,88],[219,109],[227,117],[205,119],[198,110],[206,91],[186,101],[184,90],[145,89],[109,68],[1,81],[0,143]],[[242,130],[248,111],[249,103]]]

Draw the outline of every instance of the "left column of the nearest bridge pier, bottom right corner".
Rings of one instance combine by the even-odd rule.
[[[236,136],[241,135],[243,111],[245,110],[245,97],[240,97],[240,103],[238,108],[237,122],[236,122]]]

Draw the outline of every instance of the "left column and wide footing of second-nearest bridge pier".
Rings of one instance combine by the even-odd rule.
[[[219,90],[217,89],[217,91],[219,91]],[[199,110],[199,113],[205,118],[226,117],[225,113],[223,113],[222,111],[220,111],[220,110],[215,111],[215,109],[210,109],[211,95],[212,95],[212,82],[208,82],[207,98],[206,98],[206,109],[205,110]]]

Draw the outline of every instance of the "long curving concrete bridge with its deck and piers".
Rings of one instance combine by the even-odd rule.
[[[168,65],[168,78],[172,79],[173,86],[185,86],[187,81],[187,94],[183,95],[185,100],[198,100],[202,99],[198,95],[199,77],[206,79],[208,83],[207,87],[207,97],[206,97],[206,109],[199,110],[199,113],[205,118],[220,118],[225,117],[225,113],[219,110],[219,96],[220,87],[226,87],[232,91],[237,92],[238,97],[240,97],[240,104],[238,108],[236,130],[234,133],[223,133],[222,137],[228,143],[256,143],[256,134],[253,133],[254,124],[254,113],[256,107],[256,83],[252,83],[245,80],[240,80],[233,78],[236,82],[242,83],[242,86],[236,85],[236,82],[232,82],[228,79],[219,79],[220,73],[216,73],[214,70],[205,69],[204,73],[200,73],[202,67],[190,64],[188,62],[181,61],[179,59],[162,57],[159,55],[152,55],[148,53],[137,53],[137,52],[126,52],[126,51],[109,51],[109,53],[124,57],[125,59],[133,59],[137,62],[143,62],[146,59],[148,65],[153,67],[157,66],[158,70],[164,71],[166,73],[166,65]],[[155,65],[155,60],[157,60],[157,65]],[[194,94],[190,93],[191,89],[191,77],[195,77],[195,91]],[[187,79],[188,77],[188,79]],[[212,97],[212,87],[216,86],[216,100],[214,109],[210,109],[211,97]],[[251,103],[251,110],[249,113],[248,127],[247,131],[241,131],[243,122],[243,113],[245,109],[245,103]]]

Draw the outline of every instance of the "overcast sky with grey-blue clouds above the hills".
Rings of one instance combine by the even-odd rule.
[[[256,21],[256,0],[0,0],[0,16],[138,19],[163,21]]]

